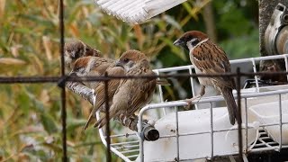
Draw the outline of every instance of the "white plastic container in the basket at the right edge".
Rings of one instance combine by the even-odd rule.
[[[280,143],[280,116],[279,116],[279,102],[262,103],[251,106],[249,108],[257,116],[257,121],[261,124],[275,124],[274,126],[266,126],[265,130],[267,134],[274,139],[277,143]],[[282,101],[282,122],[288,121],[288,101]],[[284,124],[282,127],[282,144],[288,144],[288,125]]]

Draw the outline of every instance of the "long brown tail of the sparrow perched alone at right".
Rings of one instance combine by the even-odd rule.
[[[227,104],[228,112],[229,112],[229,120],[232,125],[235,124],[235,119],[237,119],[237,104],[235,103],[235,99],[232,94],[231,88],[222,88],[221,93],[223,94],[223,97],[225,99],[225,102]]]

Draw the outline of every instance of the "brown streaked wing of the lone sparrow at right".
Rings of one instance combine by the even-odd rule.
[[[210,40],[193,49],[193,64],[204,74],[223,74],[230,72],[229,59],[223,49]],[[233,79],[229,76],[211,77],[219,85],[233,88]]]

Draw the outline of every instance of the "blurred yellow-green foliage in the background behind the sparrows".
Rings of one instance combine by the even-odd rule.
[[[257,11],[257,1],[251,0],[190,0],[131,26],[104,14],[93,0],[66,0],[66,40],[83,40],[111,58],[139,49],[154,68],[175,67],[190,61],[173,41],[184,31],[199,30],[229,58],[248,58],[259,55]],[[58,1],[0,0],[0,76],[59,76],[58,31]],[[166,98],[176,99],[171,88]],[[0,161],[61,159],[59,95],[56,84],[0,85]],[[103,161],[97,130],[81,132],[89,109],[68,92],[68,156]]]

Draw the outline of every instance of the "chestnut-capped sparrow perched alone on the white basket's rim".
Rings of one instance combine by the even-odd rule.
[[[224,74],[230,72],[229,59],[225,51],[214,44],[206,34],[201,31],[187,31],[174,45],[182,46],[189,50],[190,60],[193,64],[196,74]],[[228,107],[229,121],[235,124],[237,114],[237,104],[235,103],[232,89],[234,89],[234,80],[230,76],[198,77],[201,92],[191,99],[186,99],[191,103],[194,99],[205,94],[205,86],[211,85],[223,95]]]

